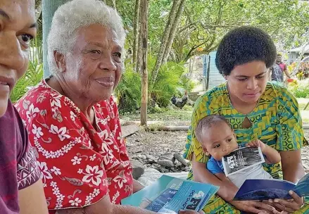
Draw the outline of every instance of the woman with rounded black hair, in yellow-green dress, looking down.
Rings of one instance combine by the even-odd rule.
[[[220,180],[206,169],[208,156],[196,139],[198,121],[210,114],[223,115],[232,125],[237,141],[244,146],[260,139],[281,155],[281,164],[264,165],[277,179],[297,182],[305,175],[301,148],[303,136],[298,103],[286,88],[267,82],[267,68],[276,58],[275,44],[268,34],[255,27],[239,27],[229,32],[217,49],[216,65],[227,82],[203,94],[197,101],[187,137],[185,158],[191,160],[189,179],[220,186],[204,209],[206,213],[259,213],[271,210],[267,202],[232,201],[237,187]],[[291,192],[294,201],[276,199],[272,207],[283,213],[309,213],[303,198]],[[303,207],[303,208],[302,208]]]

